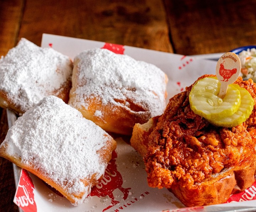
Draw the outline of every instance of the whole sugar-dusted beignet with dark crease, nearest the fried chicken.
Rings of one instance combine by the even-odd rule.
[[[167,76],[153,64],[106,49],[74,59],[69,104],[109,132],[131,134],[165,108]]]

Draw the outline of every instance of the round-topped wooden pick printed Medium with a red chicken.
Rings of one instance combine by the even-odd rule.
[[[239,57],[233,52],[222,55],[216,65],[216,75],[220,81],[220,92],[218,96],[224,98],[228,90],[228,85],[232,84],[241,72],[241,62]]]

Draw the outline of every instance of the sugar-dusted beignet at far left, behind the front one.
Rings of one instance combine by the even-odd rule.
[[[49,95],[68,102],[72,69],[68,56],[22,38],[0,59],[0,107],[23,114]]]

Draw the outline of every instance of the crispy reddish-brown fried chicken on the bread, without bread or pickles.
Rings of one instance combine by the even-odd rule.
[[[206,76],[203,75],[199,79]],[[193,85],[172,97],[148,137],[144,155],[148,184],[158,188],[200,189],[201,183],[256,159],[256,85],[241,77],[235,81],[251,94],[255,105],[242,124],[215,127],[190,108]]]

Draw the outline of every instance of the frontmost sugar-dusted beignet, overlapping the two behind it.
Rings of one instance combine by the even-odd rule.
[[[54,96],[17,119],[0,155],[32,172],[73,205],[83,202],[102,178],[116,141]]]

